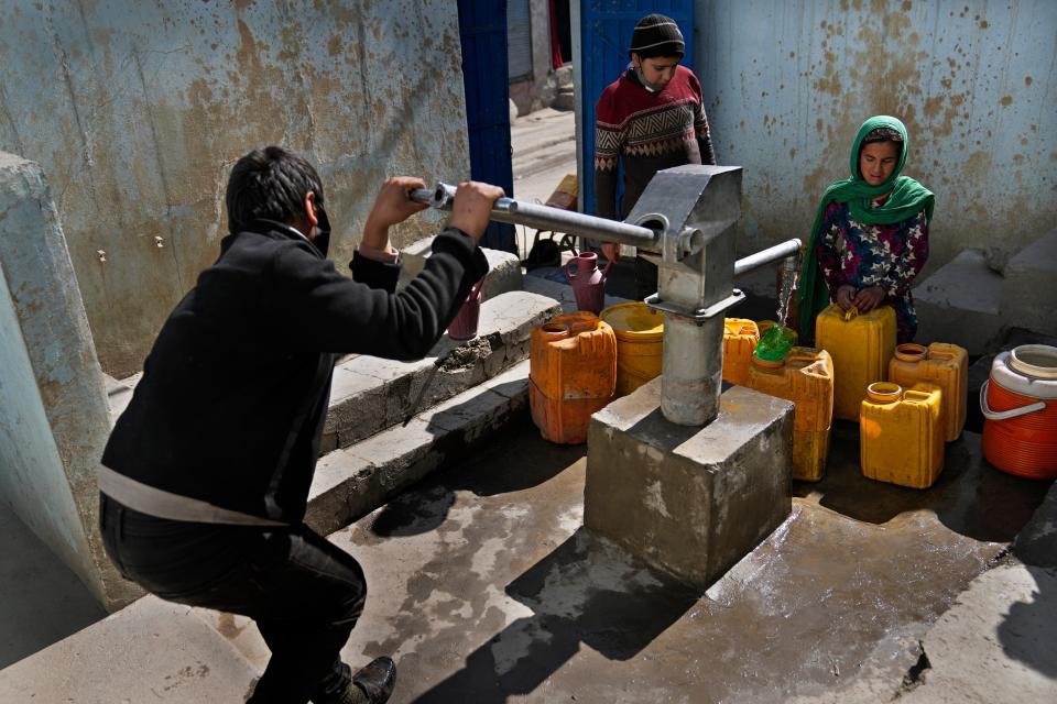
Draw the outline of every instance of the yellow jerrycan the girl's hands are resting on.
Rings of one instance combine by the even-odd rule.
[[[833,358],[833,416],[859,420],[867,386],[887,381],[895,351],[895,311],[891,306],[859,315],[831,304],[815,320],[815,346]]]

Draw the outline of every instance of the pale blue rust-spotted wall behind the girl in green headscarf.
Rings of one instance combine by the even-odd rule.
[[[926,274],[1057,222],[1057,2],[697,0],[722,164],[745,167],[748,252],[806,237],[868,117],[901,118],[936,194]]]

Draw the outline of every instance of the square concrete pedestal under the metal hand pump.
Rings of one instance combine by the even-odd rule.
[[[793,404],[734,386],[704,428],[660,404],[657,377],[591,418],[584,525],[705,590],[792,510]]]

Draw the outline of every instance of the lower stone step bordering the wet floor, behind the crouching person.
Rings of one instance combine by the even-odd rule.
[[[431,472],[522,420],[528,407],[528,360],[390,428],[319,459],[305,522],[330,535]]]

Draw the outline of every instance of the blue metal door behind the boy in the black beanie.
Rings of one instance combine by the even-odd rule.
[[[694,0],[580,0],[580,194],[584,212],[595,213],[595,105],[602,90],[628,67],[628,47],[635,22],[651,12],[676,21],[686,40],[683,65],[694,69]],[[618,196],[623,178],[618,178]],[[618,209],[619,212],[619,209]]]

